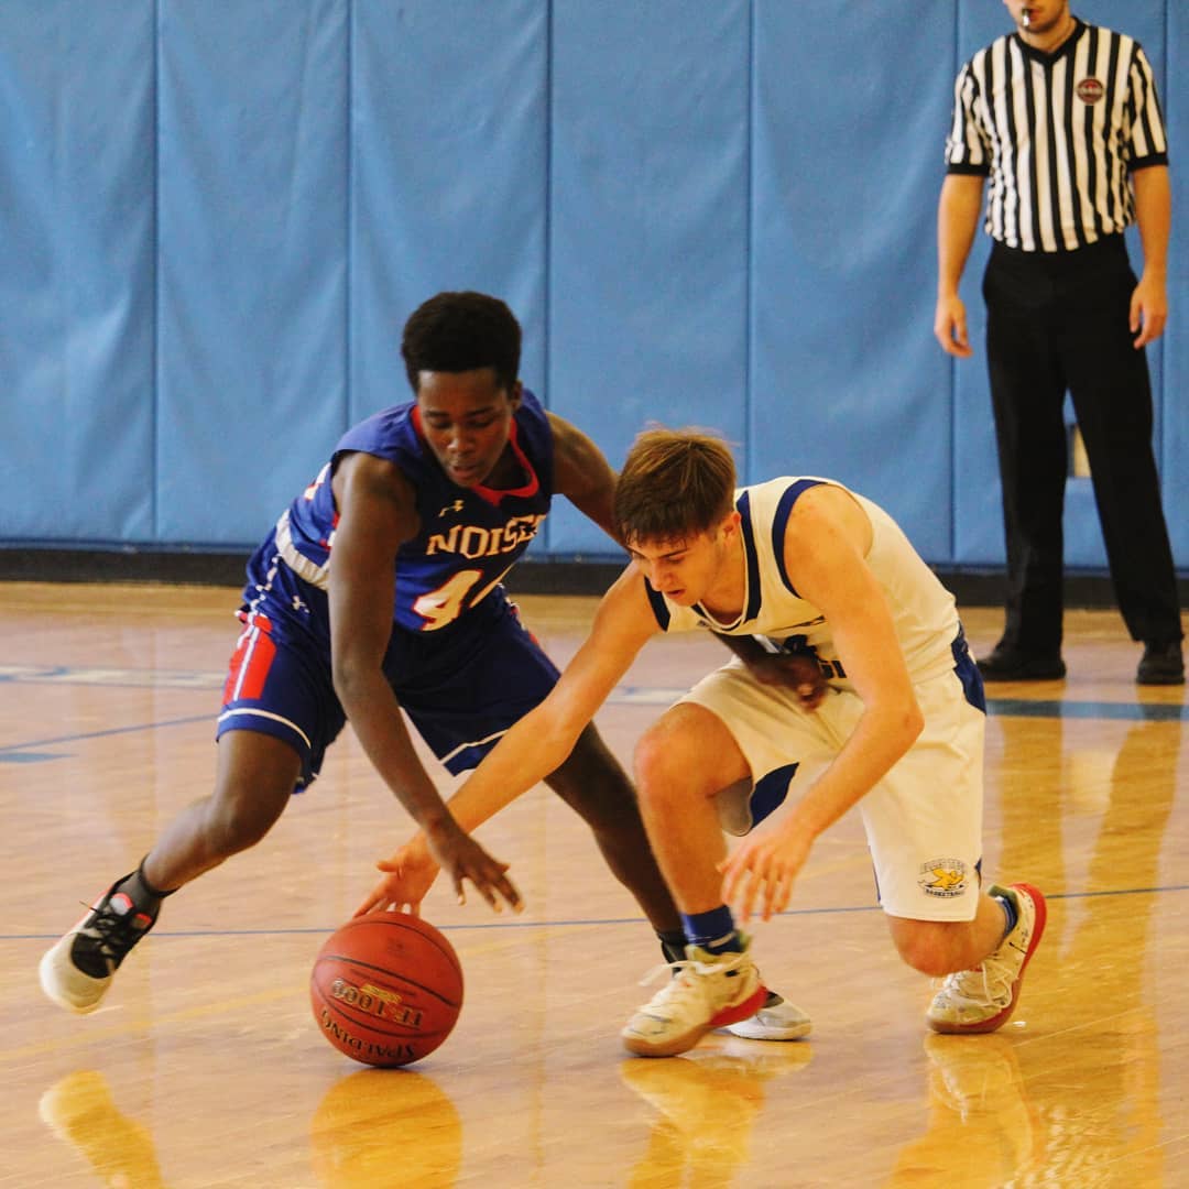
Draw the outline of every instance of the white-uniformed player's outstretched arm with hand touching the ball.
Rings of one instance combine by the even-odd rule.
[[[560,767],[644,642],[659,630],[643,577],[629,566],[603,597],[586,642],[549,696],[504,735],[451,798],[448,809],[458,824],[474,830]],[[416,912],[438,875],[424,833],[377,866],[389,874],[356,910],[357,916],[386,907]]]

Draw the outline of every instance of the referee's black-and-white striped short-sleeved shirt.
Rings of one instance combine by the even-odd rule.
[[[1008,247],[1068,252],[1122,232],[1128,171],[1168,164],[1147,57],[1081,20],[1055,54],[1000,37],[958,75],[945,161],[989,177],[984,226]]]

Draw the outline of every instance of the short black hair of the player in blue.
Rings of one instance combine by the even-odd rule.
[[[491,367],[508,392],[520,378],[521,326],[498,297],[441,292],[422,302],[404,323],[401,356],[413,391],[423,371]]]

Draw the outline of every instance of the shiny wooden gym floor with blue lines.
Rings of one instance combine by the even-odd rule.
[[[527,911],[434,888],[466,1005],[435,1053],[378,1071],[331,1049],[307,992],[372,862],[409,833],[350,731],[264,843],[169,901],[100,1012],[37,986],[80,902],[208,791],[237,594],[0,585],[0,1187],[1189,1185],[1184,691],[1137,688],[1114,612],[1068,616],[1065,681],[988,690],[984,866],[1050,898],[1000,1033],[925,1028],[929,981],[893,952],[851,814],[756,931],[812,1037],[627,1057],[617,1033],[658,946],[540,788],[480,832]],[[593,600],[520,602],[565,662]],[[998,610],[963,618],[976,652],[994,642]],[[599,717],[616,751],[723,655],[652,644]]]

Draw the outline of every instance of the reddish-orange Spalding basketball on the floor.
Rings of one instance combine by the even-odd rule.
[[[408,1065],[451,1034],[463,1008],[454,946],[405,912],[370,912],[332,933],[314,960],[314,1019],[365,1065]]]

